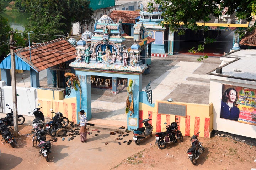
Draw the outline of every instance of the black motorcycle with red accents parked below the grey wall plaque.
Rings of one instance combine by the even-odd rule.
[[[178,118],[176,119],[178,120]],[[183,142],[183,135],[181,131],[178,130],[178,124],[179,122],[172,122],[171,125],[168,124],[165,128],[165,132],[157,132],[155,134],[156,136],[156,142],[158,144],[158,147],[160,149],[165,149],[168,143],[177,143],[177,139],[179,139],[181,142]],[[167,124],[166,122],[164,123]]]

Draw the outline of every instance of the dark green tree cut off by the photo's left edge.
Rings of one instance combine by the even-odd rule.
[[[7,18],[2,17],[4,12],[4,5],[0,2],[0,63],[10,53],[9,48],[9,32],[12,31],[11,26],[8,24]]]

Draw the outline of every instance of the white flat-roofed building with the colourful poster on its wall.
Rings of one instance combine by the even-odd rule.
[[[227,53],[220,60],[224,60],[210,75],[210,97],[213,103],[213,129],[231,134],[256,138],[256,50],[241,49]],[[222,94],[228,88],[237,91],[239,108],[238,120],[231,120],[234,115],[224,117]],[[224,103],[224,102],[223,102]],[[233,106],[236,107],[236,106]],[[231,107],[231,110],[233,109]],[[223,108],[223,109],[222,109]],[[228,112],[228,114],[230,114]]]

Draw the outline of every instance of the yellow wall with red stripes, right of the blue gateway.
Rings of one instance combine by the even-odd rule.
[[[183,104],[187,106],[186,116],[177,116],[171,114],[159,114],[158,103],[167,104]],[[140,103],[139,117],[141,119],[148,118],[151,114],[151,124],[154,127],[153,132],[165,131],[165,122],[171,124],[178,118],[177,122],[179,130],[183,136],[193,136],[197,132],[201,132],[199,137],[210,137],[210,132],[213,130],[213,104],[193,104],[193,103],[181,103],[181,102],[167,102],[167,101],[156,101],[155,107],[151,107],[147,104]],[[139,124],[140,127],[144,126]]]

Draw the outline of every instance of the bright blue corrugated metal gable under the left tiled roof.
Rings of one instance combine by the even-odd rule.
[[[1,69],[11,69],[11,54],[9,54],[0,64]],[[16,70],[30,70],[33,67],[30,66],[30,64],[24,62],[20,57],[15,55],[15,69]],[[35,70],[38,72],[38,70]]]

